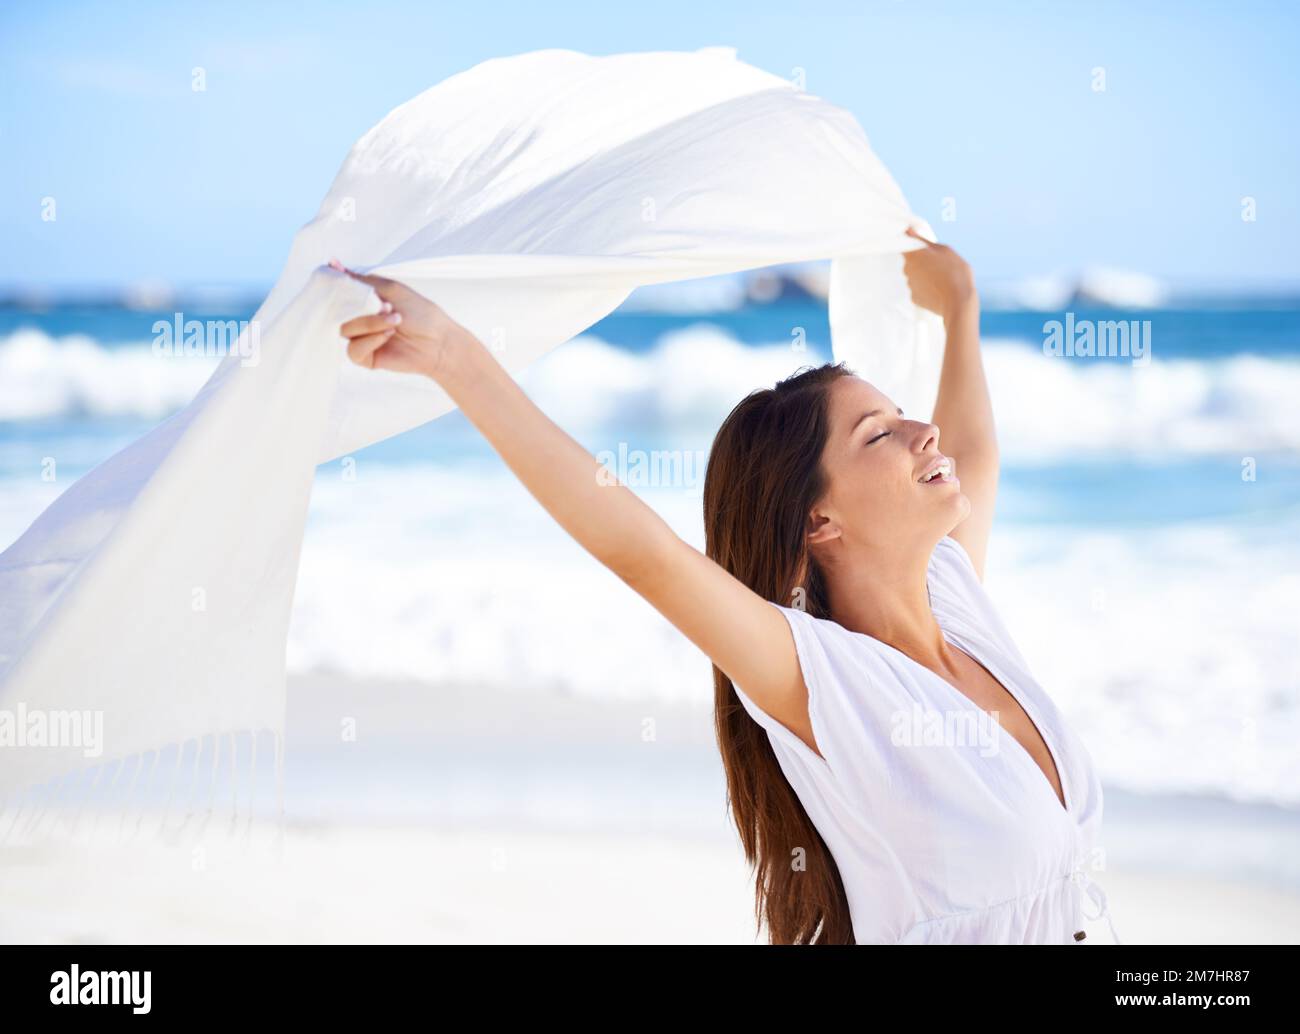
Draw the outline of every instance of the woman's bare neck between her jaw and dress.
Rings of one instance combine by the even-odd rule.
[[[872,550],[824,564],[831,615],[928,667],[946,667],[948,643],[930,609],[928,550]]]

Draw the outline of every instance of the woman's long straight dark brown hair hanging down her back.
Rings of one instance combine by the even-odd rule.
[[[826,581],[805,536],[826,490],[828,389],[846,376],[842,363],[827,363],[746,395],[719,428],[705,472],[707,555],[775,603],[792,606],[802,588],[803,609],[819,618],[829,616]],[[772,944],[853,944],[835,858],[716,665],[714,723],[732,818],[754,866],[755,920],[767,921]]]

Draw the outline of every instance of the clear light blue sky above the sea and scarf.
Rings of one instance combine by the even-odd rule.
[[[719,44],[803,69],[810,92],[850,109],[984,277],[1109,265],[1296,285],[1297,8],[10,1],[0,286],[269,286],[352,142],[439,79],[543,47]]]

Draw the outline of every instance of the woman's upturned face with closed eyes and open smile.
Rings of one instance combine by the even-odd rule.
[[[849,546],[928,553],[970,514],[959,471],[940,450],[939,428],[901,415],[861,377],[840,377],[829,393],[822,451],[828,488],[814,509],[810,541],[838,537]],[[936,470],[939,476],[927,480]]]

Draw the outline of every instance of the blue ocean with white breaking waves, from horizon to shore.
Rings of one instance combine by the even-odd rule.
[[[1044,323],[1063,312],[985,311],[1004,459],[988,590],[1108,787],[1300,808],[1300,302],[1072,315],[1149,321],[1150,360],[1049,355]],[[153,354],[153,323],[172,319],[0,308],[0,542],[207,380],[216,358]],[[723,416],[829,358],[815,299],[627,310],[523,384],[593,453],[642,471],[632,486],[702,548],[703,458]],[[287,657],[295,675],[712,692],[707,659],[459,412],[318,468]]]

